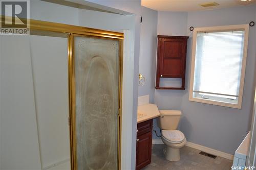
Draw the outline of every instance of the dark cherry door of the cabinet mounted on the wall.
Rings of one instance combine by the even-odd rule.
[[[181,78],[184,76],[184,59],[186,43],[183,39],[167,39],[161,41],[160,75],[162,77]]]

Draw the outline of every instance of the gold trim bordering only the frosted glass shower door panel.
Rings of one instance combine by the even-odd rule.
[[[97,30],[98,31],[98,30]],[[103,30],[101,30],[103,32]],[[98,32],[95,32],[98,33]],[[121,169],[121,108],[122,108],[122,61],[123,61],[123,39],[106,36],[90,36],[87,34],[68,33],[68,61],[69,61],[69,105],[70,105],[70,143],[71,143],[71,167],[77,169],[76,152],[76,91],[75,91],[75,57],[74,36],[119,40],[119,83],[118,83],[118,169]]]

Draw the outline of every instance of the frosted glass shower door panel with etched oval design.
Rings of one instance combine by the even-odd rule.
[[[77,169],[118,169],[120,40],[73,43]]]

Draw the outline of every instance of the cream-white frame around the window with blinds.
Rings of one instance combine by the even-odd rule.
[[[232,31],[232,30],[241,30],[241,29],[243,29],[245,32],[244,32],[244,51],[243,51],[243,59],[242,59],[238,104],[232,104],[232,103],[228,103],[228,102],[224,102],[224,101],[214,101],[214,100],[210,100],[210,99],[194,98],[193,97],[193,89],[194,89],[194,76],[195,76],[197,33],[203,32],[203,31],[205,31],[205,32],[220,32],[220,31]],[[194,29],[192,57],[191,57],[190,84],[189,84],[189,99],[188,99],[189,101],[241,109],[242,99],[243,99],[246,59],[247,59],[248,38],[249,38],[249,25],[200,27],[200,28]]]

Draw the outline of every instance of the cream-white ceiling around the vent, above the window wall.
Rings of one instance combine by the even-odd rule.
[[[216,2],[220,5],[214,7],[201,7],[200,4]],[[156,11],[202,11],[235,6],[256,4],[256,0],[142,0],[141,5]]]

